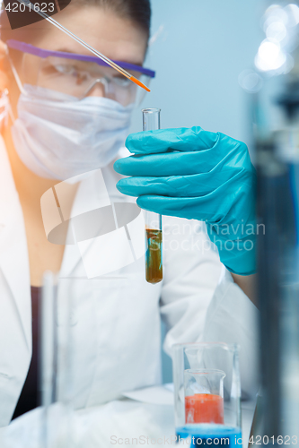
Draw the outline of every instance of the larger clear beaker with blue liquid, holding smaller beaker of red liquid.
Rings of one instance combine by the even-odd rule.
[[[172,361],[179,440],[189,438],[191,446],[242,444],[237,344],[175,344]]]

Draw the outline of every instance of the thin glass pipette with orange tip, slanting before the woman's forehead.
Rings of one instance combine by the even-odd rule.
[[[121,73],[124,76],[126,76],[126,78],[128,78],[130,81],[135,82],[136,85],[142,87],[146,91],[151,91],[148,87],[145,86],[145,84],[143,82],[137,80],[136,77],[133,76],[131,73],[128,73],[127,70],[124,70],[123,68],[119,67],[119,65],[117,65],[117,64],[115,64],[115,62],[111,61],[111,59],[109,57],[102,55],[100,53],[100,51],[97,51],[96,49],[94,49],[90,45],[86,44],[86,42],[84,42],[83,39],[78,38],[78,36],[76,36],[72,31],[67,30],[66,27],[62,26],[59,22],[57,22],[54,19],[52,19],[51,17],[49,17],[48,14],[42,13],[40,11],[40,8],[38,8],[38,11],[37,11],[35,9],[35,5],[31,4],[31,2],[29,0],[18,0],[18,2],[22,3],[22,4],[25,4],[25,6],[30,8],[31,11],[34,11],[35,13],[40,14],[41,17],[43,17],[46,21],[48,21],[49,23],[51,23],[52,25],[57,27],[58,30],[63,31],[64,33],[66,33],[67,36],[69,36],[70,38],[74,39],[80,45],[82,45],[83,47],[85,47],[86,49],[91,51],[93,53],[93,55],[100,57],[100,59],[102,61],[104,61],[106,64],[110,65],[110,67],[114,68],[119,73]]]

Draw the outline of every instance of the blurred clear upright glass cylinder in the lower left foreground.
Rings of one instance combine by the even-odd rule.
[[[57,294],[58,277],[43,276],[40,297],[40,447],[74,446],[71,365],[74,347],[70,339],[70,302]]]

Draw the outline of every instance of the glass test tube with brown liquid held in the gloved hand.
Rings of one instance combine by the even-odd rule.
[[[144,131],[160,129],[160,109],[146,108],[142,114]],[[148,283],[163,280],[162,246],[162,216],[145,211],[145,279]]]

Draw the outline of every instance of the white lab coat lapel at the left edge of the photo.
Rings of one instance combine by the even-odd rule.
[[[2,137],[0,160],[0,269],[12,292],[27,346],[31,349],[31,289],[27,240],[22,207]],[[0,319],[4,319],[5,314],[0,314]]]

